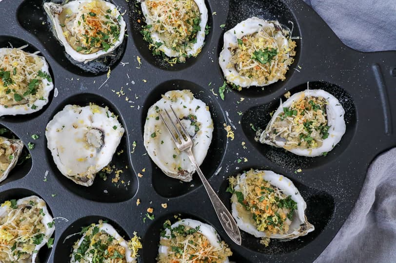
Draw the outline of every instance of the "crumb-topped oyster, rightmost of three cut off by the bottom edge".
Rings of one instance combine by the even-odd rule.
[[[164,228],[160,234],[158,263],[229,263],[231,249],[212,226],[182,219],[173,225],[167,220]]]

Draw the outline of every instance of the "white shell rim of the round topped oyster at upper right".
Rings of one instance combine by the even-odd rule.
[[[224,46],[223,50],[220,52],[218,58],[218,64],[220,65],[221,70],[223,71],[224,77],[228,82],[231,82],[240,87],[250,87],[250,86],[267,86],[272,83],[277,82],[281,73],[278,72],[277,76],[272,80],[268,81],[266,84],[258,83],[257,80],[253,78],[249,78],[247,76],[242,76],[239,74],[238,70],[235,67],[230,67],[231,64],[231,52],[229,50],[232,46],[238,46],[238,39],[242,39],[245,35],[252,35],[256,32],[260,32],[263,28],[271,28],[271,29],[281,29],[281,26],[278,21],[268,21],[260,18],[248,18],[240,23],[238,23],[235,27],[228,30],[224,33]],[[284,48],[285,50],[289,49],[289,42],[287,37],[283,34],[282,30],[279,30],[276,35],[273,36],[277,42],[278,47]],[[288,67],[285,63],[285,69]]]

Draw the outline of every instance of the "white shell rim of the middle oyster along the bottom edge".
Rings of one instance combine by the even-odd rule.
[[[121,237],[119,235],[119,233],[117,232],[117,230],[115,228],[113,228],[113,226],[111,226],[108,223],[101,223],[101,224],[97,224],[96,227],[99,228],[99,232],[106,232],[107,234],[109,234],[110,236],[112,236],[115,240],[117,240],[119,242],[119,245],[125,248],[125,260],[127,263],[136,263],[136,257],[132,257],[132,251],[128,246],[128,243],[125,241],[125,239],[123,237]],[[79,242],[77,243],[77,245],[75,246],[73,253],[72,253],[72,258],[70,260],[70,263],[76,263],[77,261],[74,259],[74,253],[77,252],[77,249],[79,247],[79,245],[81,245],[82,241],[84,240],[84,237],[87,235],[87,233],[85,233],[80,239]],[[89,253],[88,253],[89,254]],[[92,256],[91,254],[89,254],[90,256]],[[80,261],[81,263],[90,263],[92,262],[92,257],[88,257],[84,259],[81,259]]]

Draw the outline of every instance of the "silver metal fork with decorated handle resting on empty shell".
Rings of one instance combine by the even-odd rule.
[[[239,232],[237,223],[235,222],[231,213],[226,209],[224,204],[221,202],[220,198],[218,198],[218,196],[215,193],[215,191],[213,190],[213,188],[210,186],[208,180],[206,180],[205,176],[202,174],[201,169],[199,169],[199,165],[194,158],[193,152],[191,151],[191,149],[193,147],[193,141],[191,140],[190,135],[187,133],[183,124],[181,124],[181,122],[180,122],[178,116],[176,115],[176,112],[173,110],[172,106],[170,106],[170,107],[171,107],[173,114],[176,116],[176,119],[178,120],[178,124],[180,125],[181,131],[178,129],[176,124],[172,122],[171,116],[169,116],[169,113],[166,109],[164,109],[164,111],[166,112],[166,115],[168,116],[171,124],[169,124],[168,122],[165,121],[165,119],[163,118],[161,113],[159,113],[159,117],[161,118],[162,122],[165,124],[166,128],[168,129],[169,133],[171,134],[172,140],[175,142],[179,151],[186,153],[188,158],[190,158],[191,162],[195,166],[195,169],[197,170],[199,178],[201,179],[202,184],[205,187],[206,193],[208,193],[210,201],[212,202],[213,208],[216,211],[218,220],[220,220],[221,226],[223,226],[227,235],[235,243],[240,245],[241,237],[240,237],[240,232]],[[174,132],[172,132],[171,126],[176,131],[178,138],[176,138],[176,136],[174,135]]]

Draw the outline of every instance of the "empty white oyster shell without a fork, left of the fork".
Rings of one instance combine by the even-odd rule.
[[[98,105],[66,105],[45,130],[59,171],[83,186],[91,186],[95,174],[109,164],[123,134],[117,117]]]

